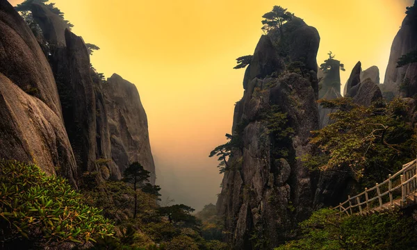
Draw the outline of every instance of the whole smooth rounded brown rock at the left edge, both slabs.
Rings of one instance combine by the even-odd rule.
[[[54,76],[31,30],[0,0],[0,158],[37,163],[76,186]]]

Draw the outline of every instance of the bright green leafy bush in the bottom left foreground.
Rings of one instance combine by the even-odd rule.
[[[113,224],[65,178],[33,164],[0,160],[0,237],[6,248],[60,242],[95,242],[113,235]]]

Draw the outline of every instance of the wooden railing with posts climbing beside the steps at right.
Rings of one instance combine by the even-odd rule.
[[[407,197],[417,191],[417,160],[402,165],[402,169],[382,183],[376,183],[373,188],[365,188],[364,192],[348,196],[347,201],[339,203],[333,208],[338,210],[340,215],[346,213],[366,213],[378,208],[393,208],[395,201],[399,201],[400,206],[405,206]],[[398,202],[397,202],[398,203]]]

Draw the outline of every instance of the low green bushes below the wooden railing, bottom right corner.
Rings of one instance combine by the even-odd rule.
[[[302,236],[275,250],[415,249],[416,221],[398,210],[361,216],[318,210],[300,223]]]

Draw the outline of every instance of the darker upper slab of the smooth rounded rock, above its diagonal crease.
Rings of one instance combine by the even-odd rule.
[[[62,117],[51,67],[26,22],[8,1],[0,1],[1,73]]]

